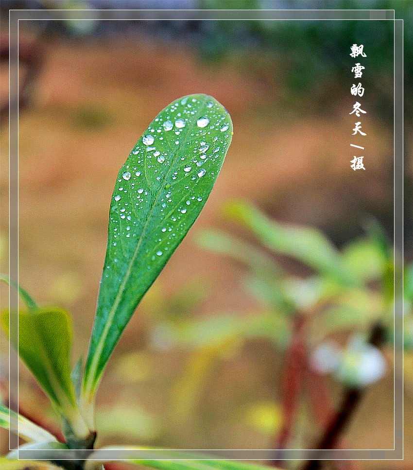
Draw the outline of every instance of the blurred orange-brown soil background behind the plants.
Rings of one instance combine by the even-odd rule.
[[[158,23],[151,26],[161,28]],[[356,62],[348,54],[351,40],[345,40],[348,53],[342,57],[347,75],[339,81],[328,54],[325,70],[319,75],[313,70],[306,79],[295,67],[293,54],[299,49],[257,54],[253,45],[210,54],[205,47],[178,40],[179,31],[173,28],[171,37],[162,38],[151,35],[148,25],[127,34],[117,33],[118,25],[110,27],[113,34],[86,38],[59,31],[39,36],[28,25],[20,30],[20,42],[34,44],[39,62],[30,102],[19,116],[19,282],[39,304],[70,311],[73,359],[86,355],[120,165],[172,100],[196,92],[214,96],[231,114],[232,145],[205,209],[138,307],[109,363],[97,397],[102,430],[97,444],[232,448],[237,443],[240,448],[267,448],[279,426],[282,357],[264,341],[230,348],[207,376],[183,424],[173,412],[171,390],[183,373],[186,352],[170,347],[156,327],[164,320],[165,306],[193,318],[223,312],[247,315],[258,308],[242,288],[244,268],[196,244],[204,228],[238,230],[221,215],[229,199],[251,201],[278,221],[319,227],[339,247],[361,235],[369,216],[392,236],[393,96],[386,89],[392,89],[393,62],[385,65],[389,73],[384,70],[380,80],[370,77],[364,96],[357,98],[368,111],[360,118],[367,136],[354,140],[365,144],[366,171],[354,172],[349,144],[355,118],[348,114],[355,101],[350,94]],[[187,29],[195,26],[179,27],[189,37]],[[364,73],[369,76],[373,61],[368,42],[364,51]],[[2,103],[7,100],[3,67]],[[24,66],[20,73],[27,73]],[[406,126],[407,178],[412,176],[412,137],[411,126]],[[1,127],[0,145],[1,270],[7,271],[7,122]],[[408,231],[407,241],[411,239]],[[6,290],[1,293],[5,307]],[[4,337],[1,353],[7,357]],[[36,415],[40,401],[47,407],[47,400],[39,400],[41,392],[25,370],[21,376],[22,408]],[[340,390],[331,385],[338,400]],[[410,443],[412,398],[410,382],[405,397],[405,440]],[[48,419],[57,422],[51,410]],[[319,432],[304,399],[293,447],[310,445]],[[357,449],[393,447],[391,368],[368,390],[346,432],[346,444]],[[409,446],[405,452],[405,462],[365,461],[360,467],[408,469],[413,454]]]

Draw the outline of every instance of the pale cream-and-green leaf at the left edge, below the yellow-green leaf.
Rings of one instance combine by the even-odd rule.
[[[56,441],[54,435],[0,404],[0,427],[10,429],[28,442]]]

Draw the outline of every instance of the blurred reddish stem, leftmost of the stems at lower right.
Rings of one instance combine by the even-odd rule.
[[[271,461],[271,465],[274,467],[283,467],[280,451],[288,448],[297,412],[298,399],[307,362],[304,336],[305,324],[306,316],[297,314],[294,319],[293,334],[287,350],[282,380],[283,423],[274,441],[274,449],[277,449],[274,460]]]

